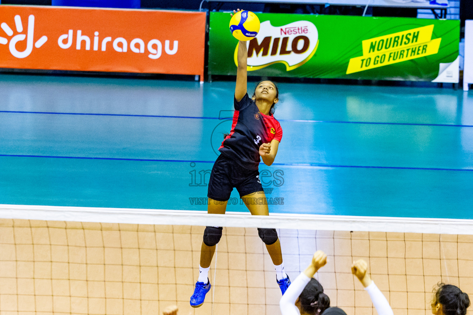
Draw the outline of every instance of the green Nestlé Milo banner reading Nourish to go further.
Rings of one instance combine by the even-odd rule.
[[[458,72],[458,20],[279,13],[258,17],[260,32],[247,42],[250,76],[455,82],[448,77],[455,77],[455,66]],[[210,75],[236,74],[238,41],[229,20],[228,13],[210,12]]]

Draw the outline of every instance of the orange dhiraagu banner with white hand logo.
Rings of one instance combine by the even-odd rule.
[[[200,75],[205,13],[0,5],[0,68]]]

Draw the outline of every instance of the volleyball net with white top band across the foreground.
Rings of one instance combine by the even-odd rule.
[[[156,315],[173,304],[181,315],[280,314],[281,293],[258,225],[277,228],[291,279],[323,250],[328,263],[315,278],[331,305],[348,315],[376,314],[350,271],[360,258],[395,315],[430,314],[438,282],[473,294],[473,235],[454,234],[471,228],[467,220],[454,230],[448,220],[6,205],[0,217],[1,314]],[[225,227],[210,265],[212,289],[191,308],[205,225]]]

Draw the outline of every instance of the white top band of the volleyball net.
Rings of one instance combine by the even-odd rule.
[[[296,230],[337,230],[370,232],[411,232],[473,235],[473,220],[368,217],[323,214],[227,212],[207,214],[193,210],[62,207],[0,204],[0,218],[102,223],[167,224],[275,228]]]

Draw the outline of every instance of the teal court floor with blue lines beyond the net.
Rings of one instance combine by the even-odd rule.
[[[206,210],[234,86],[0,75],[0,204]],[[471,92],[279,89],[270,212],[473,219]]]

